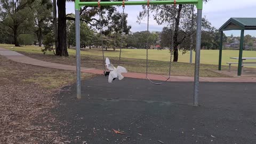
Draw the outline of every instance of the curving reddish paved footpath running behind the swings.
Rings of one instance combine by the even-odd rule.
[[[47,68],[63,69],[63,70],[76,70],[76,66],[62,65],[59,63],[46,62],[42,60],[33,59],[27,57],[26,55],[20,54],[18,52],[6,50],[0,47],[0,55],[3,55],[9,60],[26,63],[28,65],[41,66]],[[103,74],[103,70],[94,68],[84,68],[81,67],[83,73],[91,74]],[[123,74],[125,77],[146,79],[146,74],[142,73],[126,73]],[[149,74],[148,77],[152,80],[165,81],[167,76]],[[191,76],[171,76],[170,82],[194,82],[194,77]],[[256,77],[200,77],[200,82],[256,82]]]

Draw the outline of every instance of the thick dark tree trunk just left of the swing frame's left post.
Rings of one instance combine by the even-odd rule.
[[[58,5],[58,46],[56,55],[68,57],[66,31],[66,1],[57,0]]]

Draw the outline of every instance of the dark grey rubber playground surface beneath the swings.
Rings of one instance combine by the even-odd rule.
[[[201,82],[199,107],[193,82],[127,77],[83,81],[81,100],[75,84],[58,97],[54,113],[71,143],[256,143],[255,83]]]

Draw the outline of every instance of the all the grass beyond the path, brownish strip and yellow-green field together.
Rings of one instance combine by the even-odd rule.
[[[31,58],[40,59],[44,61],[51,61],[56,63],[62,63],[66,65],[76,65],[75,60],[75,50],[69,49],[70,57],[55,57],[52,52],[47,52],[45,55],[41,52],[41,47],[37,46],[22,46],[22,47],[13,47],[13,45],[0,45],[3,48],[10,49],[13,51],[17,51],[23,53]],[[13,47],[13,48],[11,48]],[[229,57],[237,57],[236,52],[238,51],[223,51],[223,55],[229,54],[229,56],[225,59],[223,56],[223,68],[228,69],[225,63],[227,61],[235,61],[229,59]],[[246,57],[253,57],[254,51],[245,51],[250,55],[246,55]],[[244,54],[244,55],[245,55]],[[118,63],[118,55],[119,51],[108,50],[105,51],[105,56],[110,57],[111,63],[117,65]],[[122,66],[126,67],[130,72],[137,73],[145,73],[146,69],[146,50],[138,50],[138,49],[124,49],[122,53]],[[170,59],[169,51],[162,50],[150,50],[149,51],[149,73],[151,74],[163,74],[167,75],[169,70],[169,62]],[[189,53],[187,54],[179,54],[179,62],[172,62],[171,74],[172,75],[180,75],[180,76],[194,76],[194,65],[190,65],[187,63],[189,61]],[[102,69],[102,51],[101,50],[83,50],[81,51],[81,63],[82,67],[89,68],[98,68]],[[215,73],[211,70],[218,69],[218,51],[217,50],[202,50],[201,54],[201,67],[200,67],[200,76],[203,77],[227,77],[226,75],[222,75],[219,73]]]

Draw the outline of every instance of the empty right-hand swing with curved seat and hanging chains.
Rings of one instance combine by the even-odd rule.
[[[174,0],[174,7],[176,6],[175,5],[175,0]],[[148,9],[147,9],[147,32],[148,34],[150,33],[149,32],[149,0],[148,0],[148,3],[147,3],[147,6],[148,6]],[[172,27],[173,29],[173,27]],[[173,37],[173,34],[172,34],[172,37]],[[172,46],[170,46],[169,50],[170,50],[170,62],[169,62],[169,77],[164,81],[164,82],[167,82],[170,78],[171,78],[171,61],[172,61],[172,47],[173,47],[173,41],[172,41]],[[146,49],[147,49],[147,59],[146,59],[146,78],[148,79],[149,82],[155,84],[155,85],[161,85],[163,84],[164,82],[162,83],[156,83],[156,82],[153,82],[149,77],[148,77],[148,49],[149,49],[149,35],[147,37],[147,45],[146,45]]]

